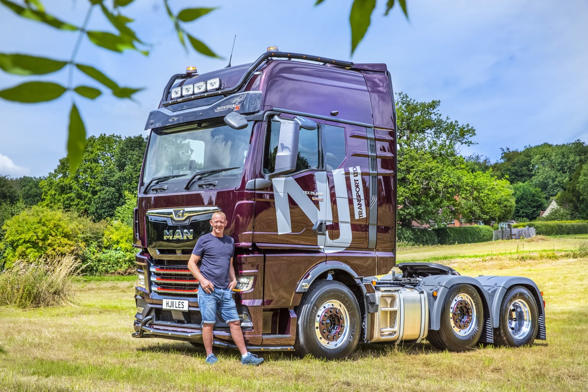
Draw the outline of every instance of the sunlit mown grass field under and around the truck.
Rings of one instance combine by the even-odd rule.
[[[238,352],[133,339],[134,280],[80,280],[74,306],[0,307],[0,391],[585,391],[588,387],[588,236],[399,250],[463,274],[527,276],[544,292],[547,340],[518,349],[437,351],[426,341],[360,346],[348,360]],[[580,254],[583,254],[580,252]],[[437,259],[435,259],[437,257]]]

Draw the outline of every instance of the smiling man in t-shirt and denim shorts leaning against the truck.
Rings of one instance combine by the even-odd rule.
[[[216,312],[230,327],[230,336],[241,353],[243,365],[259,365],[263,358],[247,351],[241,331],[241,322],[232,290],[237,284],[233,269],[235,242],[224,234],[227,224],[222,212],[215,212],[211,219],[212,232],[201,236],[188,261],[188,269],[198,279],[198,306],[202,314],[202,340],[206,349],[206,363],[218,361],[212,353],[212,330]],[[202,260],[200,268],[197,263]]]

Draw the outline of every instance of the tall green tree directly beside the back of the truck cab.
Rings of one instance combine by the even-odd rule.
[[[417,102],[405,93],[396,99],[398,132],[398,220],[403,227],[442,223],[457,216],[465,160],[457,154],[476,131],[443,118],[439,100]]]

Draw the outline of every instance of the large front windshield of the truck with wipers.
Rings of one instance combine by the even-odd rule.
[[[200,177],[242,173],[251,129],[250,122],[247,128],[239,130],[224,124],[193,126],[173,133],[153,130],[147,148],[143,184],[152,180],[158,183],[177,178],[186,182],[190,178],[198,180]]]

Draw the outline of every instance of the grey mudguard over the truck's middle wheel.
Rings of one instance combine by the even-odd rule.
[[[429,297],[429,329],[438,330],[440,328],[440,317],[441,311],[443,309],[443,303],[445,303],[445,298],[450,292],[451,288],[456,284],[470,284],[473,287],[476,287],[477,291],[480,293],[484,307],[484,331],[480,341],[485,343],[493,343],[493,316],[490,313],[492,301],[490,299],[489,293],[483,287],[482,282],[469,276],[433,275],[427,276],[420,281],[419,287],[425,290],[427,297]],[[433,296],[433,292],[437,292],[437,296]]]

